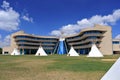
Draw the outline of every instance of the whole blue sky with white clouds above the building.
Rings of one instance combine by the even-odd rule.
[[[61,31],[74,34],[93,24],[109,25],[113,38],[120,37],[119,3],[120,0],[0,0],[0,46],[9,45],[10,34],[19,30],[58,36]]]

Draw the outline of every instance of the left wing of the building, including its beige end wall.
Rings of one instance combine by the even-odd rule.
[[[48,54],[51,54],[54,52],[58,40],[57,37],[36,36],[18,31],[11,35],[10,46],[3,48],[3,54],[12,53],[14,48],[17,48],[21,54],[35,54],[40,45]]]

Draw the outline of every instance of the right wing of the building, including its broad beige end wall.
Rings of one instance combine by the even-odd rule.
[[[80,31],[79,34],[66,37],[68,45],[72,45],[81,54],[88,54],[91,44],[96,43],[103,55],[112,55],[111,27],[95,25]]]

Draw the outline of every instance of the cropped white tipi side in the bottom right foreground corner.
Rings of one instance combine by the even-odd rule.
[[[120,80],[120,58],[113,64],[101,80]]]

